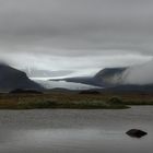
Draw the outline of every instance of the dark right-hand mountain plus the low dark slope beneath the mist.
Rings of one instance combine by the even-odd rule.
[[[83,83],[89,85],[101,86],[103,89],[96,89],[102,93],[153,93],[153,84],[126,84],[127,70],[129,68],[106,68],[97,72],[94,76],[79,76],[62,79],[67,82]],[[55,80],[61,81],[61,80]]]

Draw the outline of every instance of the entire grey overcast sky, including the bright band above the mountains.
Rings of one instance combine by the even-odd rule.
[[[0,0],[0,58],[19,68],[92,72],[152,56],[153,0]]]

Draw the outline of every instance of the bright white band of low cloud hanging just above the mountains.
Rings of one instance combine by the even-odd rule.
[[[111,54],[109,54],[109,51],[107,54],[107,51],[104,50],[102,54],[99,52],[95,56],[86,55],[86,57],[50,56],[42,52],[3,52],[1,54],[0,60],[17,69],[35,68],[50,71],[73,70],[73,75],[89,75],[95,74],[95,72],[103,68],[134,66],[152,59],[152,56],[143,56],[139,52],[117,52],[117,50],[113,50]]]

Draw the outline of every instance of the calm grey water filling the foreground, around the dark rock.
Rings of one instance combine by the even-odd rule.
[[[153,107],[0,110],[0,153],[153,153]]]

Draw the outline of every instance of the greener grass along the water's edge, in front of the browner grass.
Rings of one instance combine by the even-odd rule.
[[[71,108],[71,109],[123,109],[126,105],[115,105],[106,102],[26,102],[19,103],[17,109],[34,109],[34,108]]]

